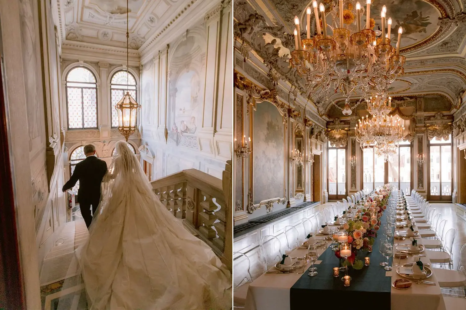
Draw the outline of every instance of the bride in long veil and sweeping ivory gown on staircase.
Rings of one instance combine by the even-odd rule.
[[[128,145],[116,149],[76,251],[89,309],[230,309],[230,271],[166,210]]]

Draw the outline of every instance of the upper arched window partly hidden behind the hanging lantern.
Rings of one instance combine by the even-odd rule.
[[[115,106],[118,101],[120,101],[126,90],[130,92],[130,95],[137,100],[136,98],[136,79],[134,76],[125,71],[121,70],[113,74],[110,82],[110,93],[112,96],[111,111],[112,111],[112,128],[118,127],[118,114]]]

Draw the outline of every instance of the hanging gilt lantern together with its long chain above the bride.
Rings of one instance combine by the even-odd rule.
[[[130,73],[128,71],[129,68],[129,38],[130,38],[130,31],[128,26],[128,0],[126,0],[126,73],[128,77],[126,79],[126,83],[128,83]],[[126,84],[127,87],[128,84]],[[117,109],[118,115],[118,132],[120,132],[126,141],[130,135],[132,135],[136,131],[136,118],[137,118],[137,110],[141,107],[136,100],[130,95],[128,88],[126,89],[126,93],[123,95],[123,98],[118,101],[115,105],[115,109]]]

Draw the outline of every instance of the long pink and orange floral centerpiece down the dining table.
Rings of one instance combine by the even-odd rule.
[[[351,256],[348,257],[348,264],[353,269],[362,269],[364,262],[356,258],[358,251],[370,251],[377,237],[377,231],[380,229],[380,218],[387,209],[387,202],[391,191],[390,187],[384,187],[385,190],[376,191],[375,197],[369,197],[366,200],[358,202],[359,209],[356,216],[343,224],[343,229],[348,232],[348,243],[352,245]],[[380,197],[383,198],[380,198]],[[335,252],[336,257],[340,256],[340,251]]]

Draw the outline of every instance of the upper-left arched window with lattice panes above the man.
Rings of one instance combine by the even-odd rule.
[[[75,67],[66,77],[68,129],[97,128],[97,83],[94,73]]]

